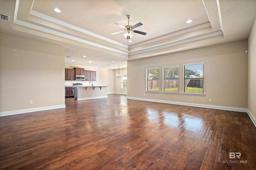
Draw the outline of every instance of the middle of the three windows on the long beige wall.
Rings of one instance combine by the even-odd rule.
[[[179,66],[164,66],[164,92],[179,92]]]

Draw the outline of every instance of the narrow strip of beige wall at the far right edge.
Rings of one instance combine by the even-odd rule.
[[[248,39],[248,110],[256,117],[256,20]],[[254,119],[254,121],[256,121]]]

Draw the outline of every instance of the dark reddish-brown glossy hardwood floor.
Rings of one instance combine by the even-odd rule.
[[[256,169],[247,113],[125,95],[66,98],[64,109],[0,117],[0,137],[0,169]]]

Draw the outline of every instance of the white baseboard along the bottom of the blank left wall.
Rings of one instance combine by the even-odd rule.
[[[12,111],[1,111],[0,117],[9,116],[9,115],[17,115],[17,114],[22,114],[22,113],[30,113],[30,112],[34,112],[34,111],[60,109],[60,108],[65,108],[65,107],[66,107],[66,105],[62,104],[62,105],[55,105],[55,106],[35,107],[35,108],[12,110]]]

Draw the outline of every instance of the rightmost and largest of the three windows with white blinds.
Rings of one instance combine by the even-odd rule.
[[[184,92],[204,93],[204,63],[183,64]]]

